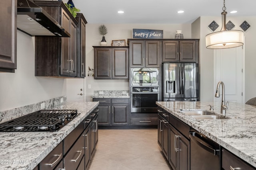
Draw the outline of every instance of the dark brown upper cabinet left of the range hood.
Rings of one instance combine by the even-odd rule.
[[[1,0],[0,72],[17,68],[17,0]]]

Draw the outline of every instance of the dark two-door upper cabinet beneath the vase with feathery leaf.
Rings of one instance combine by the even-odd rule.
[[[94,46],[95,79],[128,79],[128,47]]]

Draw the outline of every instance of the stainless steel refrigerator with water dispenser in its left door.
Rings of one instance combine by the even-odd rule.
[[[163,101],[198,101],[197,63],[163,63]]]

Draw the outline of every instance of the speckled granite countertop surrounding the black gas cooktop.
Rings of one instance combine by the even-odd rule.
[[[57,132],[1,132],[0,169],[32,170],[99,102],[66,102],[52,109],[77,109],[80,113]]]

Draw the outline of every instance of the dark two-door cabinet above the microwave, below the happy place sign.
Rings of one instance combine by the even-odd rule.
[[[129,39],[130,67],[160,67],[161,41]]]

